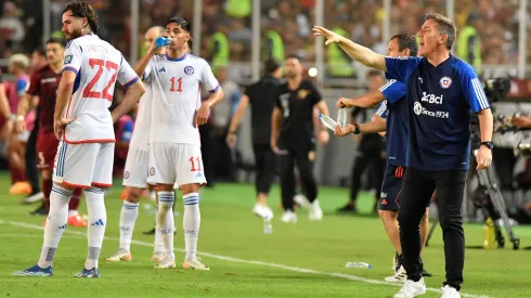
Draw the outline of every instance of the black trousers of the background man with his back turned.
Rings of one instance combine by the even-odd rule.
[[[255,152],[256,193],[268,195],[275,178],[279,156],[271,150],[270,144],[254,144],[252,150]]]

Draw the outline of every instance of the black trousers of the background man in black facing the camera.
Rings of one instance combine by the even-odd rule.
[[[308,144],[297,144],[293,146],[281,146],[281,195],[284,210],[294,210],[295,196],[295,163],[299,169],[300,182],[303,193],[310,203],[318,197],[318,183],[313,177],[313,160],[310,154],[315,154],[315,145],[308,141]]]

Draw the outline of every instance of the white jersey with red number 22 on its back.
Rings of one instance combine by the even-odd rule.
[[[139,77],[124,55],[93,34],[78,37],[66,46],[63,72],[77,74],[68,104],[63,113],[69,124],[63,135],[66,143],[115,142],[113,102],[115,82],[126,88]]]

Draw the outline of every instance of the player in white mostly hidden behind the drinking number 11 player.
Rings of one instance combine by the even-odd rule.
[[[145,33],[145,46],[152,47],[157,37],[163,36],[165,28],[160,26],[152,27]],[[164,51],[164,48],[159,48]],[[152,101],[153,90],[151,83],[146,83],[146,92],[140,99],[140,106],[137,113],[137,120],[129,144],[126,167],[124,170],[124,185],[126,198],[120,212],[120,247],[107,261],[130,261],[131,239],[134,230],[134,223],[139,217],[139,202],[142,192],[147,187],[148,172],[148,150],[150,150],[150,130],[152,122]],[[170,213],[168,213],[170,215]],[[172,215],[170,215],[172,216]],[[159,233],[155,231],[155,251],[152,260],[160,261],[163,254]]]

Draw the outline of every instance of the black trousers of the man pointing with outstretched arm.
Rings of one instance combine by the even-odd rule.
[[[407,278],[419,281],[423,273],[420,260],[419,223],[426,212],[426,204],[430,200],[433,189],[437,190],[439,221],[444,241],[444,259],[446,281],[457,290],[463,283],[465,264],[465,233],[461,208],[465,193],[466,171],[422,171],[407,168],[400,194],[400,243]]]

